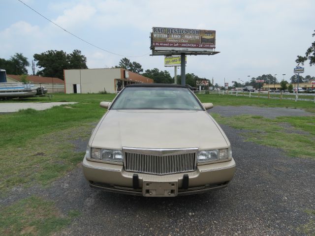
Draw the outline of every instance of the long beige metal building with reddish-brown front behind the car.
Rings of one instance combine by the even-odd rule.
[[[65,93],[115,93],[126,85],[153,80],[124,68],[63,70]]]

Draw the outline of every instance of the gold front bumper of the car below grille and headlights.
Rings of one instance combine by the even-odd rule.
[[[122,165],[100,163],[83,160],[83,173],[92,187],[110,192],[131,195],[144,195],[142,186],[144,182],[177,182],[176,195],[202,193],[213,189],[226,187],[235,173],[235,161],[197,165],[196,171],[171,175],[149,175],[126,172]],[[138,188],[134,189],[133,175],[138,175]],[[188,188],[184,189],[184,175],[188,175]]]

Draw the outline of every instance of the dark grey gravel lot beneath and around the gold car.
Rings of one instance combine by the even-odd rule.
[[[218,107],[211,112],[226,115],[226,107]],[[275,116],[269,108],[254,109]],[[234,115],[244,111],[232,110]],[[298,227],[311,219],[304,210],[315,209],[315,161],[289,158],[280,149],[244,142],[240,136],[244,130],[222,128],[237,164],[225,189],[176,198],[107,193],[91,189],[80,166],[48,189],[15,189],[2,204],[39,194],[55,201],[63,212],[82,212],[57,235],[304,235]],[[76,143],[84,150],[86,141]]]

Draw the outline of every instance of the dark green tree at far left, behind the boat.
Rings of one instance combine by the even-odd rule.
[[[16,53],[10,59],[0,59],[0,68],[5,69],[7,74],[22,75],[27,74],[27,66],[30,62],[22,53]]]

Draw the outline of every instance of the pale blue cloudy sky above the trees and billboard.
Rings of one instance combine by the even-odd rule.
[[[78,49],[89,68],[110,68],[127,57],[144,70],[158,68],[174,76],[163,56],[150,56],[152,27],[210,29],[216,30],[220,53],[188,56],[186,73],[231,86],[262,74],[289,81],[296,57],[315,41],[314,0],[22,1],[72,34],[122,56],[79,40],[19,0],[0,0],[0,58],[23,53],[31,62],[36,53]],[[315,76],[315,65],[306,62],[304,67],[303,76]]]

